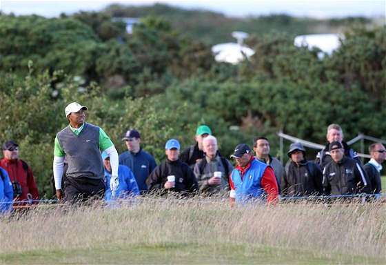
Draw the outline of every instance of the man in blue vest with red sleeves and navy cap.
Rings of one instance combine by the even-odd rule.
[[[251,200],[266,201],[267,205],[278,202],[278,186],[274,170],[254,159],[247,144],[239,144],[231,155],[236,168],[230,177],[230,204],[243,204]]]

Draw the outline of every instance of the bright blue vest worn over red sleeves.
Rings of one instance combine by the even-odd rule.
[[[261,186],[261,178],[265,168],[267,168],[267,164],[253,159],[250,168],[245,171],[243,179],[241,179],[241,171],[234,168],[231,178],[236,190],[236,202],[243,203],[250,199],[264,199],[267,193]]]

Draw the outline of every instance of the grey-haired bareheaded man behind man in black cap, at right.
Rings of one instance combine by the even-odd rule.
[[[316,155],[315,163],[321,166],[321,168],[325,168],[325,166],[332,161],[331,154],[329,153],[329,144],[331,144],[333,141],[338,141],[343,145],[344,148],[344,155],[345,157],[349,157],[352,159],[356,159],[359,164],[362,164],[358,155],[354,150],[352,150],[349,145],[343,141],[343,130],[341,126],[338,124],[330,124],[327,127],[327,141],[325,148],[323,148],[320,152],[318,152],[318,155]]]

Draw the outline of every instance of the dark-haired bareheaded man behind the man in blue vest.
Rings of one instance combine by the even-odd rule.
[[[270,142],[265,137],[254,137],[253,149],[256,153],[256,159],[267,165],[270,165],[274,170],[276,181],[278,184],[278,192],[281,193],[281,179],[283,179],[284,168],[278,159],[270,155]]]

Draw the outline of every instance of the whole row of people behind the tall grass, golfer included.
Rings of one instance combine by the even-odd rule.
[[[327,144],[316,159],[308,160],[305,147],[293,143],[289,161],[270,155],[270,141],[263,136],[250,146],[238,144],[230,157],[219,152],[209,126],[196,130],[196,143],[180,155],[181,145],[171,138],[165,143],[165,161],[157,165],[141,148],[139,130],[124,137],[127,151],[118,155],[108,135],[99,126],[85,122],[86,106],[72,102],[65,108],[70,121],[54,141],[53,185],[59,201],[70,204],[105,199],[106,202],[139,196],[201,195],[229,198],[230,206],[277,204],[281,199],[363,195],[379,199],[380,170],[386,159],[381,143],[369,147],[370,161],[364,166],[357,153],[343,141],[338,124],[327,128]],[[19,159],[19,144],[3,143],[0,161],[0,213],[10,213],[40,199],[32,169]],[[234,165],[230,159],[234,159]],[[13,205],[12,205],[13,204]]]

